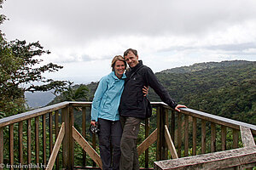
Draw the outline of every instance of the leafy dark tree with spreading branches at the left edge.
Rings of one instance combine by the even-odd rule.
[[[3,0],[0,0],[2,8]],[[6,17],[0,14],[0,24]],[[64,89],[66,81],[46,79],[44,72],[59,71],[62,66],[49,63],[38,66],[43,61],[39,58],[49,54],[39,42],[26,43],[15,40],[8,42],[0,31],[0,116],[10,116],[25,111],[24,93]],[[36,85],[39,82],[40,85]]]

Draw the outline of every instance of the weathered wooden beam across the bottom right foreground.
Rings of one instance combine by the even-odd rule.
[[[236,167],[251,164],[256,161],[256,146],[244,147],[235,150],[219,151],[198,156],[189,156],[179,159],[154,161],[154,170],[210,170]]]

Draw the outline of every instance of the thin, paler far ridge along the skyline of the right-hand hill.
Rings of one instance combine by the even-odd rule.
[[[186,73],[186,72],[193,72],[193,71],[201,71],[203,69],[212,69],[214,67],[247,65],[250,62],[251,61],[246,61],[246,60],[229,60],[229,61],[222,61],[222,62],[195,63],[194,65],[166,69],[164,71],[160,71],[160,73]]]

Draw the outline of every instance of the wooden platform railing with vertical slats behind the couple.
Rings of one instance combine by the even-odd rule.
[[[162,102],[151,104],[155,114],[143,122],[145,140],[137,148],[142,168],[255,166],[256,126],[191,109],[172,111]],[[0,169],[101,167],[97,138],[88,132],[90,106],[91,102],[62,102],[0,119]],[[153,162],[149,149],[155,142]],[[216,156],[224,159],[212,158]],[[230,161],[236,163],[225,163]]]

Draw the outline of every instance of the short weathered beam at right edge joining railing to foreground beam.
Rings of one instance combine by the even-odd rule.
[[[240,126],[241,129],[241,141],[244,147],[255,146],[253,134],[248,127]]]

